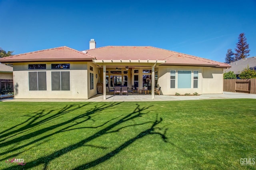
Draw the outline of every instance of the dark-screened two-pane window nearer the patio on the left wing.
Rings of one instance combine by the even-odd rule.
[[[70,73],[52,72],[52,90],[70,90]]]

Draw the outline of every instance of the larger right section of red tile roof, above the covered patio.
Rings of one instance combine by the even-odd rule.
[[[161,65],[230,67],[226,63],[151,46],[105,46],[86,52],[96,60],[165,60]]]

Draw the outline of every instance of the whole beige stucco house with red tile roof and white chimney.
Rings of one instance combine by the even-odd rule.
[[[63,46],[1,58],[13,64],[14,98],[88,99],[103,84],[161,87],[160,93],[221,94],[229,64],[151,46],[104,46],[82,52]]]

